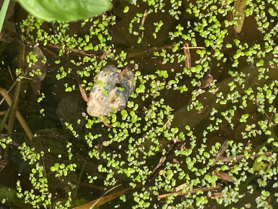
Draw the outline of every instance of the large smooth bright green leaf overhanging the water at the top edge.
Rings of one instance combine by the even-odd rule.
[[[31,15],[45,21],[83,20],[111,8],[109,0],[17,0]]]

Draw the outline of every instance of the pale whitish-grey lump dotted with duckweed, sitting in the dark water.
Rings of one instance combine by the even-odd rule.
[[[107,116],[110,112],[122,110],[135,88],[134,74],[117,72],[115,65],[105,66],[97,75],[87,102],[87,112],[91,116]]]

